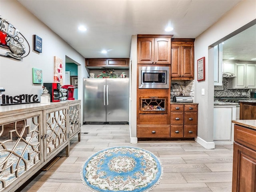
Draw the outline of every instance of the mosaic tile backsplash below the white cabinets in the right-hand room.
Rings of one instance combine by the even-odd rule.
[[[214,98],[250,98],[250,89],[227,89],[227,78],[224,79],[223,90],[214,90]]]

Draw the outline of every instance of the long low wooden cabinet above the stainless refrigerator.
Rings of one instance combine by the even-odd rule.
[[[85,66],[90,67],[125,67],[129,68],[129,58],[87,58]]]

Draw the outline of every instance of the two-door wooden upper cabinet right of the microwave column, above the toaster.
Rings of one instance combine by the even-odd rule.
[[[171,79],[194,79],[194,39],[172,39]]]

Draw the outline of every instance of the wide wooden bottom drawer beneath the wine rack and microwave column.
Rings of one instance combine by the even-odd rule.
[[[169,138],[170,125],[137,125],[138,138]]]

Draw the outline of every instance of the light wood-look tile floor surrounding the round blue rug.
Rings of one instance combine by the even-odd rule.
[[[86,134],[88,133],[88,134]],[[206,150],[194,141],[140,141],[130,144],[128,125],[83,125],[81,141],[71,140],[48,170],[38,172],[17,192],[90,192],[80,170],[92,154],[114,146],[134,146],[154,153],[164,175],[152,192],[231,192],[233,145]]]

